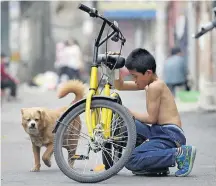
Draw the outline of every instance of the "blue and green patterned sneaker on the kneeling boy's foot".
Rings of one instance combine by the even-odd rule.
[[[175,176],[179,177],[190,174],[196,157],[196,148],[194,146],[183,145],[181,149],[181,155],[176,157],[179,170],[176,171]]]

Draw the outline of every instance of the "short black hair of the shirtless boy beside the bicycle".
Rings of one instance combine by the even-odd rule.
[[[145,49],[134,49],[126,59],[125,66],[128,70],[136,70],[145,74],[147,70],[156,71],[156,63],[154,57]]]

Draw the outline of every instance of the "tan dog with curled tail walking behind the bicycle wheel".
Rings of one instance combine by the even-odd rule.
[[[73,103],[82,99],[84,97],[85,85],[78,80],[71,80],[63,83],[58,88],[58,97],[62,98],[69,93],[75,94],[75,99]],[[51,110],[42,107],[33,108],[23,108],[22,113],[22,126],[24,130],[29,134],[32,142],[32,149],[34,154],[35,165],[31,171],[40,171],[40,149],[42,146],[46,147],[46,151],[42,156],[42,160],[45,165],[51,167],[51,156],[53,154],[53,140],[54,134],[52,130],[54,129],[57,119],[68,107],[62,107],[56,110]],[[77,122],[78,121],[78,122]],[[71,127],[72,126],[72,127]],[[73,137],[73,144],[67,145],[63,142],[63,146],[68,150],[68,162],[73,166],[73,161],[71,156],[76,152],[76,146],[78,143],[78,136],[81,130],[80,118],[76,118],[76,121],[72,121],[70,126],[70,131],[68,129],[65,138],[70,135]],[[72,141],[71,140],[71,141]],[[69,140],[68,140],[69,141]]]

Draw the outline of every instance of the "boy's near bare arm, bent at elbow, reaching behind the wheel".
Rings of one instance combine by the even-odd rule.
[[[161,86],[150,85],[148,88],[147,112],[138,113],[130,111],[131,114],[143,123],[156,124],[160,108]]]

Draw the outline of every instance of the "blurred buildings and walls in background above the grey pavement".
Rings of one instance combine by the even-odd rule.
[[[174,65],[185,78],[183,83],[174,83],[175,96],[185,102],[199,100],[206,109],[216,107],[216,32],[198,40],[192,37],[202,24],[214,19],[216,1],[1,1],[1,53],[7,72],[20,84],[40,86],[45,78],[58,82],[59,74],[66,73],[61,69],[62,51],[73,46],[81,56],[73,72],[88,81],[101,22],[80,11],[79,3],[116,20],[127,39],[122,55],[137,47],[149,50],[163,79],[175,76],[172,65],[166,64],[177,63],[173,56],[179,54],[172,49],[180,49],[186,73]],[[108,51],[119,51],[119,45],[109,41]],[[171,77],[166,77],[169,72]]]

